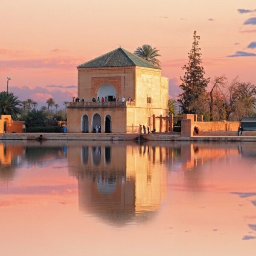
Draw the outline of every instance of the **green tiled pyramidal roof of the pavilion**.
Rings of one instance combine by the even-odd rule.
[[[77,66],[77,68],[86,67],[149,67],[154,69],[161,69],[143,58],[126,51],[125,49],[117,48],[111,52],[108,52],[98,58],[91,61],[87,61],[84,64]]]

